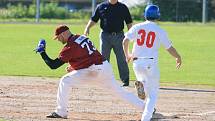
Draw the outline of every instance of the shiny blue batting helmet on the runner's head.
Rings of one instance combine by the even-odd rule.
[[[160,18],[160,10],[157,5],[147,5],[145,8],[144,17],[147,20],[156,20]]]

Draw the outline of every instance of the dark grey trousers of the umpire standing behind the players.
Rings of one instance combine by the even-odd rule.
[[[101,32],[100,33],[100,49],[102,55],[110,61],[110,53],[113,51],[116,55],[120,79],[123,83],[129,83],[129,69],[126,62],[125,54],[122,47],[124,32]]]

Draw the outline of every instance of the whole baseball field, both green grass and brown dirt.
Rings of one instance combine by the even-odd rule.
[[[159,53],[161,88],[153,120],[215,121],[215,24],[159,23],[182,56],[182,67],[164,48]],[[68,24],[83,34],[86,23]],[[55,108],[59,78],[65,67],[50,70],[33,49],[39,39],[47,41],[47,53],[55,59],[62,44],[52,40],[56,24],[0,24],[0,121],[47,120]],[[99,26],[90,38],[99,49]],[[119,79],[115,56],[111,64]],[[135,80],[129,64],[131,80]],[[120,81],[119,81],[120,83]],[[133,85],[126,88],[135,93]],[[72,121],[135,121],[140,111],[96,85],[71,89],[69,119]]]

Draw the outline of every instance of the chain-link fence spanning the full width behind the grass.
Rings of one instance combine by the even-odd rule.
[[[37,0],[1,0],[0,19],[35,18]],[[94,0],[96,4],[104,0]],[[203,12],[203,1],[206,1]],[[215,20],[215,0],[150,0],[161,11],[161,21],[202,22],[203,15],[207,22]],[[148,3],[148,2],[147,2]],[[129,8],[134,19],[142,19],[145,4]],[[92,0],[40,0],[40,17],[57,19],[89,19]]]

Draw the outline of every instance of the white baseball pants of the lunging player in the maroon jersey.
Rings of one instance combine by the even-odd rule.
[[[116,97],[121,97],[124,101],[134,105],[143,111],[144,101],[133,93],[124,90],[116,82],[111,65],[105,61],[101,65],[92,65],[86,69],[72,71],[60,79],[57,93],[57,108],[55,112],[60,116],[67,116],[69,88],[77,84],[96,84],[108,89]]]

